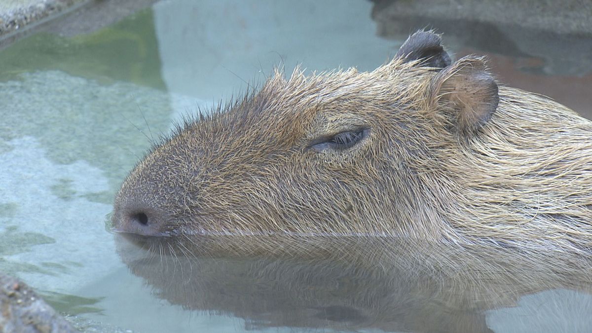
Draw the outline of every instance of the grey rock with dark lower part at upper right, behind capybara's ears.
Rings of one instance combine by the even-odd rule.
[[[382,37],[402,40],[435,28],[452,46],[536,57],[546,74],[583,76],[592,68],[590,13],[592,2],[583,0],[376,0],[372,18]]]

